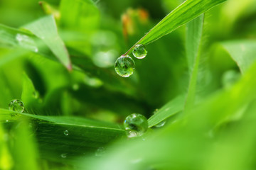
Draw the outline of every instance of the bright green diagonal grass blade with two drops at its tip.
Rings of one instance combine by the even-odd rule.
[[[226,0],[187,0],[180,6],[171,11],[165,18],[152,28],[149,33],[139,40],[137,44],[149,44],[166,34],[171,33],[176,28],[183,26],[188,21],[200,16],[202,13],[208,11],[213,6],[223,3]],[[135,46],[134,45],[134,46]],[[134,46],[125,54],[128,54]]]

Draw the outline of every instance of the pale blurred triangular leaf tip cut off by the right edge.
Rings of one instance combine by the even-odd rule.
[[[242,74],[250,68],[256,60],[256,41],[255,40],[232,40],[220,42],[224,49],[230,54],[240,68]]]

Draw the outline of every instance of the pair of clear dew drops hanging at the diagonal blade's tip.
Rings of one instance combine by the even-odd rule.
[[[146,47],[144,45],[135,45],[132,54],[137,59],[143,59],[147,54]],[[114,70],[120,77],[129,77],[134,73],[135,62],[129,55],[122,55],[114,63]]]

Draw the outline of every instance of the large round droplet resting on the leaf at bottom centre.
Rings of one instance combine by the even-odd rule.
[[[144,115],[133,113],[124,120],[124,128],[128,137],[141,136],[148,129],[149,124]]]

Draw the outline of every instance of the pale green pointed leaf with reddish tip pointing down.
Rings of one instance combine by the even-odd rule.
[[[30,30],[38,38],[41,38],[58,60],[69,70],[72,69],[68,50],[58,35],[53,16],[45,16],[23,27]]]

